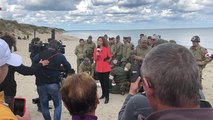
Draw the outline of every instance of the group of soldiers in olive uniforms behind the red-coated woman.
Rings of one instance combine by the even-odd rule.
[[[140,73],[139,70],[143,59],[153,47],[168,42],[176,44],[175,40],[167,41],[162,39],[160,35],[156,34],[148,37],[144,34],[140,34],[136,47],[131,42],[131,37],[123,37],[123,43],[121,42],[119,35],[109,38],[107,35],[104,35],[104,37],[108,40],[108,45],[112,55],[112,70],[109,77],[110,93],[122,95],[128,91],[129,83],[133,82],[135,77],[139,76],[139,74],[135,73]],[[201,46],[199,45],[199,47]],[[95,48],[96,44],[92,41],[92,36],[89,36],[86,41],[84,39],[79,40],[79,45],[75,48],[78,73],[87,72],[91,76],[95,76],[95,63],[93,61],[93,51]],[[197,61],[203,61],[202,67],[200,67],[203,69],[204,66],[210,61],[205,57],[204,51],[193,51],[193,49],[190,50],[194,54]],[[197,56],[199,56],[199,58],[197,58]]]

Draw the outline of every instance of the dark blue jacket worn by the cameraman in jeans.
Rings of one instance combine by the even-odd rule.
[[[33,66],[38,64],[40,60],[49,60],[49,64],[45,67],[41,67],[35,74],[36,85],[52,84],[60,82],[61,66],[67,74],[71,74],[70,63],[65,56],[52,49],[47,49],[37,54],[33,58]]]

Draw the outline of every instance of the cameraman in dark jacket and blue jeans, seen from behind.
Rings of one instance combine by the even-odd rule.
[[[45,120],[51,120],[49,113],[49,99],[50,96],[54,104],[54,120],[61,118],[61,95],[60,89],[60,67],[63,65],[67,74],[74,73],[71,69],[70,63],[65,56],[58,52],[59,42],[52,40],[49,42],[49,48],[40,52],[33,58],[33,65],[37,64],[39,60],[49,60],[49,64],[42,67],[36,75],[37,92],[41,104],[41,111]]]

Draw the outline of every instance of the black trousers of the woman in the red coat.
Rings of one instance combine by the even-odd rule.
[[[105,98],[109,98],[109,72],[98,72],[97,75],[101,83],[102,95]]]

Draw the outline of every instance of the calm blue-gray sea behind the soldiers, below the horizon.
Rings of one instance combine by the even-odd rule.
[[[137,29],[137,30],[71,30],[64,34],[75,36],[82,39],[87,39],[89,35],[93,37],[93,41],[96,41],[99,36],[105,34],[108,37],[116,37],[120,35],[121,40],[124,36],[131,36],[132,42],[136,45],[139,39],[139,35],[143,33],[147,36],[153,34],[160,35],[165,40],[175,40],[177,44],[183,45],[189,48],[191,38],[194,35],[200,37],[200,45],[207,48],[210,53],[213,54],[213,28],[175,28],[175,29]]]

